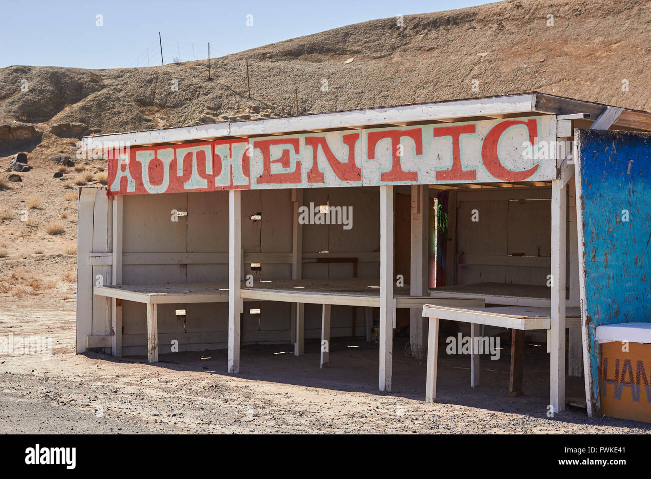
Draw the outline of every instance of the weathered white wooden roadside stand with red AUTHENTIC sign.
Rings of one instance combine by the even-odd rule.
[[[79,194],[77,353],[157,362],[227,349],[236,374],[241,345],[291,342],[301,355],[307,338],[320,339],[324,367],[331,338],[370,341],[376,315],[378,387],[391,392],[406,308],[426,401],[439,320],[450,319],[472,338],[512,330],[514,396],[525,332],[547,331],[550,403],[562,411],[566,328],[570,375],[590,341],[564,149],[574,128],[649,131],[651,115],[533,92],[87,137],[108,181]],[[430,217],[443,196],[447,283],[434,287]],[[402,235],[409,248],[395,246]]]

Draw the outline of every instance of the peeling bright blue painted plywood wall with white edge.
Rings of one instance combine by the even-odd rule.
[[[596,415],[596,327],[651,322],[651,134],[579,130],[576,138],[586,395]]]

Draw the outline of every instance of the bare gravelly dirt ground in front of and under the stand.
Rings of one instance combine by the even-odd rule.
[[[0,356],[0,433],[649,433],[651,425],[547,417],[549,356],[525,353],[525,396],[508,397],[508,347],[482,358],[482,386],[469,387],[469,358],[440,356],[437,403],[424,398],[425,363],[396,338],[393,392],[380,393],[377,345],[333,341],[329,368],[317,343],[243,347],[241,373],[226,351],[116,359],[74,354],[74,303],[42,295],[25,307],[3,297],[0,336],[52,338],[52,356]],[[568,379],[568,396],[583,381]]]

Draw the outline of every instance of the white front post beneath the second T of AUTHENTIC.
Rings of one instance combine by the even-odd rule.
[[[380,186],[380,390],[393,372],[393,186]]]

